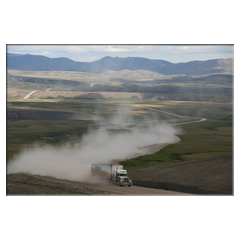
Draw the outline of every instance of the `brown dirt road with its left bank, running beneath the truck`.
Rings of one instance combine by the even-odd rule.
[[[7,175],[7,195],[183,196],[176,191],[147,187],[120,187],[109,182],[88,183],[24,173]]]

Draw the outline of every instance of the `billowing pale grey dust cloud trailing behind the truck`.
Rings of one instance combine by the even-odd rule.
[[[120,121],[119,121],[120,120]],[[127,112],[118,112],[112,119],[105,121],[108,128],[130,121]],[[101,125],[101,124],[100,124]],[[106,128],[90,130],[81,140],[74,144],[52,147],[36,145],[31,149],[23,149],[7,165],[7,174],[28,172],[42,176],[69,179],[73,181],[94,182],[91,177],[92,163],[111,163],[113,159],[124,159],[138,153],[141,148],[159,143],[174,142],[179,129],[167,124],[156,124],[151,119],[145,121],[144,130],[134,127],[129,131],[111,133]]]

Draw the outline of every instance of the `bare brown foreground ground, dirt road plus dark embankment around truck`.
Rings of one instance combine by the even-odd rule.
[[[132,187],[23,173],[7,175],[7,195],[233,195],[232,156],[164,164],[128,172]]]

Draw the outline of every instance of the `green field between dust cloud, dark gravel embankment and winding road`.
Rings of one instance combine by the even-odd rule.
[[[182,125],[181,141],[152,155],[122,162],[127,170],[233,154],[232,119],[207,120]]]

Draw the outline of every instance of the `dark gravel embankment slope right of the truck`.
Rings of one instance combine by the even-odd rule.
[[[201,195],[233,195],[232,156],[164,164],[128,172],[134,185]]]

